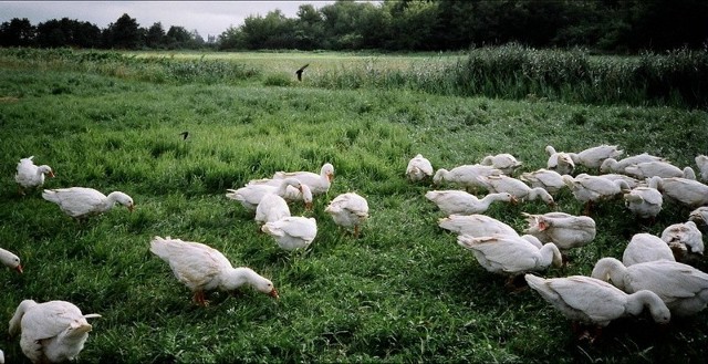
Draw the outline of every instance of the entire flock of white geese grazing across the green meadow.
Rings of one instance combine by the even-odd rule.
[[[519,179],[512,176],[521,163],[510,154],[488,156],[480,164],[450,170],[440,168],[435,174],[430,163],[417,155],[408,163],[406,176],[412,181],[431,178],[435,185],[448,183],[462,187],[465,190],[426,193],[425,197],[447,216],[438,225],[458,233],[457,242],[469,249],[485,269],[510,277],[510,283],[513,278],[524,277],[529,287],[574,322],[601,327],[648,308],[656,322],[666,323],[671,315],[691,315],[706,308],[708,274],[679,262],[688,256],[702,256],[699,227],[708,221],[708,186],[697,180],[691,167],[681,169],[648,154],[617,160],[623,150],[610,145],[580,153],[559,153],[551,146],[545,150],[546,168],[523,173]],[[18,164],[15,180],[21,194],[41,187],[45,175],[54,176],[49,166],[37,166],[32,158],[22,158]],[[700,179],[708,180],[708,157],[700,155],[696,163]],[[602,174],[573,177],[579,165]],[[288,204],[302,200],[310,209],[313,195],[326,193],[333,176],[334,167],[327,163],[319,174],[280,171],[271,178],[230,189],[226,196],[253,211],[260,231],[271,236],[280,248],[305,249],[316,237],[316,221],[311,217],[291,216]],[[541,199],[554,206],[553,196],[563,188],[569,188],[585,204],[585,216],[558,211],[524,214],[529,227],[520,236],[507,223],[483,215],[491,204],[499,202]],[[482,190],[487,191],[485,197],[475,196]],[[595,221],[586,215],[593,204],[618,196],[624,196],[625,206],[644,219],[655,218],[665,199],[695,210],[686,222],[667,227],[660,237],[635,235],[622,261],[600,259],[592,277],[543,279],[530,274],[551,264],[565,263],[572,249],[590,243],[595,238]],[[115,204],[129,210],[135,207],[124,193],[106,196],[84,187],[45,189],[42,197],[76,219],[105,212]],[[354,193],[336,196],[325,211],[336,225],[353,229],[355,237],[368,218],[366,199]],[[208,304],[206,291],[231,292],[243,284],[278,298],[270,280],[250,268],[233,268],[223,254],[206,245],[155,237],[150,251],[169,263],[177,280],[191,290],[197,304]],[[0,249],[0,261],[22,272],[20,259],[12,252]],[[20,346],[32,362],[62,362],[81,352],[92,329],[86,319],[98,316],[83,314],[65,301],[24,300],[10,320],[9,333],[20,334]],[[0,360],[4,362],[2,351]]]

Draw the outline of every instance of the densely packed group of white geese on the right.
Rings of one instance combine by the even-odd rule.
[[[510,154],[485,157],[479,164],[450,170],[438,169],[421,155],[407,168],[412,180],[431,177],[436,185],[456,184],[461,189],[429,190],[425,197],[448,215],[438,225],[458,235],[457,242],[470,250],[486,270],[514,278],[523,277],[528,285],[575,323],[586,326],[581,337],[591,342],[611,321],[638,315],[648,309],[657,323],[671,315],[688,316],[708,304],[708,274],[687,264],[704,253],[699,229],[708,222],[708,186],[698,181],[693,167],[679,168],[649,154],[617,160],[623,150],[601,145],[580,153],[556,152],[548,146],[546,168],[523,173]],[[708,157],[695,158],[699,177],[708,180]],[[576,166],[587,171],[572,176]],[[491,204],[541,199],[555,206],[553,195],[569,188],[585,205],[584,216],[548,212],[525,216],[528,228],[520,236],[509,225],[485,216]],[[473,193],[486,190],[483,198]],[[566,263],[569,251],[595,238],[595,221],[589,217],[600,200],[623,197],[626,208],[638,218],[650,220],[662,210],[665,199],[685,205],[694,211],[686,222],[667,227],[660,237],[636,233],[627,245],[622,261],[600,259],[591,277],[572,275],[543,279],[532,274],[551,264]],[[677,261],[678,260],[678,261]],[[681,262],[683,261],[683,262]],[[610,284],[608,282],[612,282]]]

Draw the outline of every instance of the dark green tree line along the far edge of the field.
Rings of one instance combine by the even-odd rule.
[[[509,42],[610,53],[705,49],[708,1],[337,0],[302,4],[295,18],[280,10],[250,15],[206,41],[184,27],[140,28],[128,14],[105,29],[67,18],[0,25],[1,46],[455,51]]]

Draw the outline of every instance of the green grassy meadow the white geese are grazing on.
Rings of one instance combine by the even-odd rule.
[[[454,95],[405,81],[436,83],[420,70],[459,64],[459,54],[21,52],[0,52],[0,247],[24,266],[23,274],[0,270],[0,321],[24,299],[100,313],[79,363],[706,360],[706,311],[668,329],[648,315],[623,319],[595,343],[579,341],[540,295],[510,292],[506,278],[437,226],[442,215],[424,198],[437,187],[404,177],[418,153],[436,169],[511,153],[520,171],[531,171],[545,166],[546,145],[612,144],[695,168],[695,156],[708,153],[705,110],[521,91]],[[211,56],[223,59],[194,70],[195,60]],[[298,82],[292,72],[304,63],[311,66]],[[20,196],[15,166],[31,155],[56,174],[45,188],[121,190],[136,209],[79,223],[40,190]],[[306,251],[280,250],[257,232],[252,212],[225,197],[250,179],[317,171],[326,162],[335,167],[329,194],[315,197],[312,211],[291,206],[293,216],[317,220]],[[346,191],[368,200],[358,239],[324,212]],[[556,202],[581,214],[569,191]],[[548,211],[531,201],[493,205],[487,215],[521,231],[522,212]],[[648,225],[622,200],[603,202],[591,215],[595,240],[572,251],[568,268],[542,275],[589,275],[600,258],[621,258],[634,233],[659,235],[688,212],[666,204]],[[238,298],[212,292],[209,306],[196,306],[148,251],[154,236],[207,243],[271,279],[280,299],[244,289]],[[696,267],[708,270],[705,259]],[[1,335],[0,349],[8,362],[25,362],[18,337]]]

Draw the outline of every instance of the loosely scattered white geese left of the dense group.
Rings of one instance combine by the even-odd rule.
[[[41,187],[45,175],[54,176],[51,167],[37,166],[32,159],[22,158],[18,164],[15,181],[22,195],[27,189]],[[228,190],[227,197],[254,211],[260,230],[273,237],[280,248],[305,249],[316,237],[316,221],[314,218],[291,216],[288,202],[303,200],[305,208],[310,209],[313,195],[327,193],[333,177],[331,164],[322,166],[320,174],[279,171],[270,179],[252,180],[242,188]],[[105,212],[115,204],[126,206],[131,211],[135,207],[133,199],[124,193],[114,191],[106,196],[85,187],[45,189],[42,197],[79,220]],[[355,193],[336,196],[325,211],[336,225],[353,229],[355,237],[368,218],[366,199]],[[221,252],[204,243],[155,237],[149,250],[169,264],[177,280],[192,291],[192,300],[197,304],[208,304],[205,299],[207,291],[236,292],[244,284],[273,298],[279,297],[269,279],[247,267],[233,268]],[[22,273],[20,258],[14,253],[0,249],[0,261]],[[9,334],[20,334],[22,352],[33,363],[59,363],[79,355],[92,330],[86,319],[100,316],[83,314],[66,301],[37,303],[24,300],[10,320]],[[0,363],[4,363],[2,351]]]

